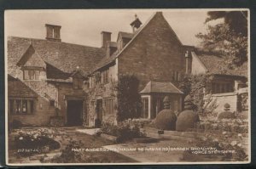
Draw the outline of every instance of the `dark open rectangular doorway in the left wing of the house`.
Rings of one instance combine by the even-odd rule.
[[[83,100],[67,101],[67,126],[83,124]]]

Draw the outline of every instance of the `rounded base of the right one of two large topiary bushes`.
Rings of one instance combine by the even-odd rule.
[[[193,110],[184,110],[177,116],[176,130],[179,132],[185,132],[189,128],[195,127],[198,121],[200,120],[197,113]]]

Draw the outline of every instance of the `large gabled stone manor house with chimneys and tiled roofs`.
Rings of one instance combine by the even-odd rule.
[[[24,125],[95,126],[116,122],[119,76],[133,73],[139,80],[142,118],[154,119],[164,96],[172,110],[183,109],[178,84],[186,73],[210,73],[209,93],[219,104],[245,87],[247,65],[221,72],[223,58],[183,45],[161,12],[146,23],[137,17],[131,32],[119,31],[116,41],[102,31],[102,48],[61,42],[61,26],[45,25],[46,38],[8,37],[8,116]],[[188,28],[189,31],[189,28]]]

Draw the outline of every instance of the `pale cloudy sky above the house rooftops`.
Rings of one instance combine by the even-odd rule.
[[[206,32],[207,10],[184,9],[67,9],[7,10],[5,35],[44,39],[45,24],[61,25],[61,41],[101,47],[101,32],[112,32],[116,41],[119,31],[131,32],[135,14],[143,24],[156,11],[162,11],[169,25],[184,45],[199,44],[195,35]]]

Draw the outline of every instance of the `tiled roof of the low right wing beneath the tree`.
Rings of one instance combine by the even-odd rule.
[[[247,76],[247,62],[239,67],[230,69],[225,63],[225,56],[222,54],[197,51],[194,53],[194,56],[200,59],[203,66],[205,66],[207,71],[211,74]]]

